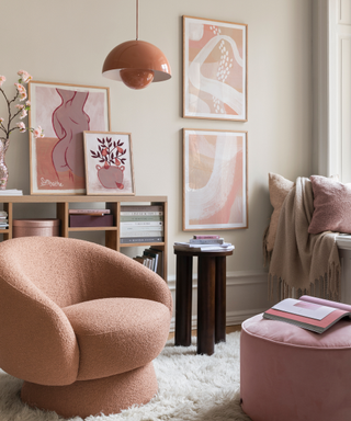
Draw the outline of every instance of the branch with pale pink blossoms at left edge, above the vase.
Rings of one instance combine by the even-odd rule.
[[[22,102],[27,98],[26,89],[23,84],[27,83],[32,79],[32,76],[25,70],[20,70],[18,75],[20,76],[20,79],[19,83],[14,83],[16,91],[12,100],[8,99],[7,94],[1,88],[3,82],[5,82],[7,78],[4,76],[0,76],[0,92],[2,93],[8,104],[8,124],[5,125],[4,118],[0,117],[0,129],[3,132],[3,136],[0,136],[0,139],[3,141],[7,141],[10,137],[10,134],[14,130],[20,130],[20,133],[29,130],[31,133],[34,133],[34,137],[36,138],[44,137],[44,132],[41,126],[38,126],[37,128],[25,127],[25,124],[23,122],[19,122],[15,126],[11,126],[15,117],[22,120],[26,117],[29,110],[31,110],[31,102],[26,101],[25,104],[15,104],[14,106],[18,109],[18,111],[12,111],[12,104],[15,101],[19,100],[20,102]]]

